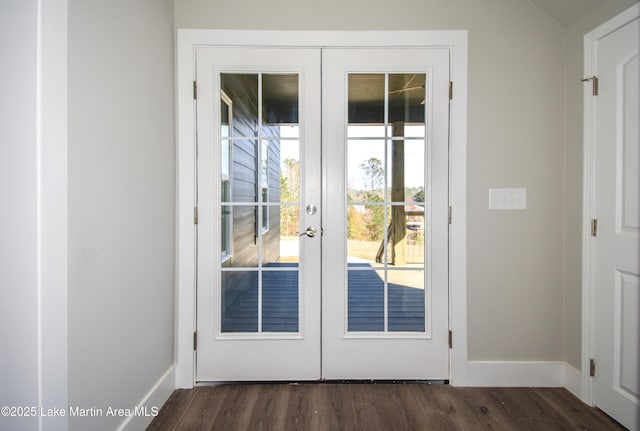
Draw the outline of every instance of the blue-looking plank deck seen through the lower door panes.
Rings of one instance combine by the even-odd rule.
[[[272,264],[262,272],[262,331],[298,331],[298,272],[269,271],[273,267],[294,267],[293,264]],[[357,269],[355,269],[357,268]],[[368,264],[349,264],[349,331],[384,330],[384,281]],[[353,270],[352,270],[353,269]],[[258,273],[242,274],[223,282],[223,332],[257,332]],[[232,299],[224,293],[233,291]],[[238,293],[239,292],[239,293]],[[425,329],[424,289],[388,283],[389,331],[423,332]]]

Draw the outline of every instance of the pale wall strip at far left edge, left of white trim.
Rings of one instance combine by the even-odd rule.
[[[0,13],[0,406],[37,406],[37,1]],[[37,418],[0,417],[29,430]]]

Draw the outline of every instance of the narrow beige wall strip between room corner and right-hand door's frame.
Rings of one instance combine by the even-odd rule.
[[[611,0],[567,29],[567,147],[564,180],[564,356],[580,367],[582,334],[582,188],[584,35],[626,10],[635,0]]]

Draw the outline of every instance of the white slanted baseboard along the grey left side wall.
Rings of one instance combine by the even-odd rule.
[[[175,389],[175,365],[171,365],[151,390],[135,407],[136,414],[128,416],[118,427],[118,431],[139,431],[145,429],[157,415],[162,405]]]

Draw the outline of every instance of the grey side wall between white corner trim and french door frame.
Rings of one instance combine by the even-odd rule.
[[[71,406],[133,408],[173,364],[173,68],[170,0],[69,1]]]

